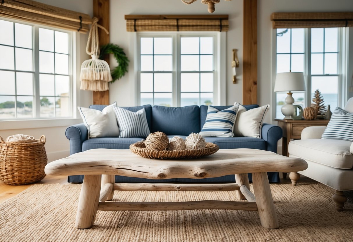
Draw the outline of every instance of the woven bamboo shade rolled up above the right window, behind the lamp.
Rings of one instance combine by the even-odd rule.
[[[353,12],[272,13],[271,20],[274,29],[352,27]]]

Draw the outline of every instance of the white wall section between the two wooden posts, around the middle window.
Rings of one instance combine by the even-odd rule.
[[[215,5],[214,14],[229,15],[229,31],[227,32],[226,65],[231,66],[232,49],[238,49],[240,67],[237,68],[238,83],[233,84],[231,68],[227,68],[227,104],[235,101],[241,102],[242,96],[242,59],[243,59],[243,0],[221,1]],[[134,47],[131,46],[134,32],[126,32],[125,14],[210,14],[207,5],[200,1],[191,5],[185,5],[180,0],[111,0],[110,1],[110,42],[124,48],[130,60],[128,73],[109,85],[110,103],[117,101],[120,106],[136,105],[134,101],[134,89],[131,75],[134,75]],[[115,60],[110,59],[111,67],[114,67]],[[132,78],[133,80],[133,78]]]

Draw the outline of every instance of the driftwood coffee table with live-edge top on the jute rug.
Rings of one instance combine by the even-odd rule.
[[[130,150],[94,149],[47,164],[48,175],[85,175],[79,196],[76,227],[90,228],[97,210],[235,209],[258,211],[261,225],[278,228],[267,171],[292,172],[307,168],[303,159],[256,149],[225,149],[198,159],[154,160]],[[254,194],[247,173],[252,173]],[[149,179],[207,178],[235,174],[236,183],[115,183],[114,175]],[[114,190],[235,190],[244,201],[106,202]]]

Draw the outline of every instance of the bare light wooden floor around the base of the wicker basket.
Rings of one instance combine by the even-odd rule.
[[[60,183],[66,184],[67,183],[67,176],[46,176],[40,182],[36,182],[33,184],[52,184],[52,183]],[[20,192],[24,191],[25,189],[33,186],[33,184],[28,185],[8,185],[4,182],[0,182],[0,203],[16,196]]]

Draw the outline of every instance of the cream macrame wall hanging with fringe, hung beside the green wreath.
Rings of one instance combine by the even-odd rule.
[[[100,54],[98,27],[103,29],[107,34],[109,34],[109,32],[97,22],[98,19],[93,17],[86,46],[86,53],[90,55],[92,59],[85,60],[82,63],[80,73],[81,90],[107,91],[109,89],[108,82],[112,81],[108,63],[98,59]],[[91,51],[89,51],[90,46]]]

